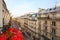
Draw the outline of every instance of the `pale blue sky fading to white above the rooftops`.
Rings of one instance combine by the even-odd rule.
[[[38,8],[51,8],[60,5],[60,0],[5,0],[7,8],[13,17],[29,12],[37,12]]]

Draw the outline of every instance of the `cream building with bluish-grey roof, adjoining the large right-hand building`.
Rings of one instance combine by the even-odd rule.
[[[31,38],[33,38],[33,40],[38,40],[37,13],[31,14],[28,17],[28,28],[28,32],[30,33]]]

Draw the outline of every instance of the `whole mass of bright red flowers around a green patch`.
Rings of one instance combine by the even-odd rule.
[[[4,35],[0,35],[0,40],[23,40],[22,33],[16,28],[8,28]]]

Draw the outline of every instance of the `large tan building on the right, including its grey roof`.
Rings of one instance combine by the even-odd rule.
[[[41,40],[60,40],[60,7],[42,10],[38,14]]]

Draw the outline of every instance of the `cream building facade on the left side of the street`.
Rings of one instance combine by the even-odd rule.
[[[6,7],[4,0],[0,0],[0,27],[8,25],[10,21],[10,13]]]

